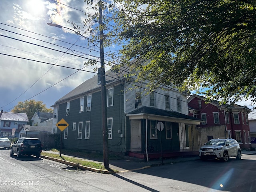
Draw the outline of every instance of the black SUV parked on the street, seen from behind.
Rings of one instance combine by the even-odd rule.
[[[21,155],[35,155],[38,158],[42,148],[39,138],[21,137],[11,146],[10,156],[16,153],[17,158],[20,158]]]

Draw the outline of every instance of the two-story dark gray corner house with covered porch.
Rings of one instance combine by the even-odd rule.
[[[131,78],[122,77],[123,74],[111,70],[106,72],[109,150],[138,158],[157,158],[162,142],[166,157],[198,153],[196,125],[201,120],[188,116],[187,94],[174,88],[149,93],[143,87],[135,89]],[[98,76],[76,87],[52,107],[52,133],[60,133],[56,124],[62,118],[69,124],[63,131],[64,147],[103,150]]]

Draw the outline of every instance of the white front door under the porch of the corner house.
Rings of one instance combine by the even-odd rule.
[[[131,120],[131,151],[141,151],[140,120]]]

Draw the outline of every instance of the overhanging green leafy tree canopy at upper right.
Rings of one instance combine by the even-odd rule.
[[[210,99],[256,101],[256,6],[252,0],[116,0],[116,42],[137,81],[175,84]]]

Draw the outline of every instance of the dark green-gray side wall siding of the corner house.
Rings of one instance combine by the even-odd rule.
[[[108,90],[106,88],[106,92]],[[120,138],[120,134],[124,133],[124,95],[121,92],[123,86],[120,84],[114,87],[113,106],[107,107],[107,118],[113,118],[112,122],[112,139],[108,139],[110,151],[124,152],[124,138]],[[83,95],[84,104],[87,103],[87,95]],[[78,148],[86,150],[103,150],[103,136],[102,136],[102,106],[101,106],[101,92],[92,93],[91,110],[79,112],[80,97],[70,100],[70,113],[66,116],[66,102],[59,105],[58,116],[64,117],[68,122],[68,138],[63,140],[64,147]],[[86,108],[85,108],[86,109]],[[60,120],[60,118],[58,119]],[[90,138],[85,139],[86,121],[90,121]],[[73,122],[76,122],[76,130],[72,130]],[[82,122],[82,139],[78,139],[78,123]],[[120,132],[118,133],[118,130]],[[59,131],[58,131],[59,132]]]

